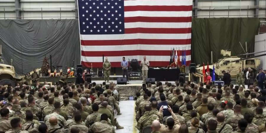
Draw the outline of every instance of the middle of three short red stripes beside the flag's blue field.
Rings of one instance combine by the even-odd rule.
[[[191,22],[192,17],[125,17],[124,22]]]

